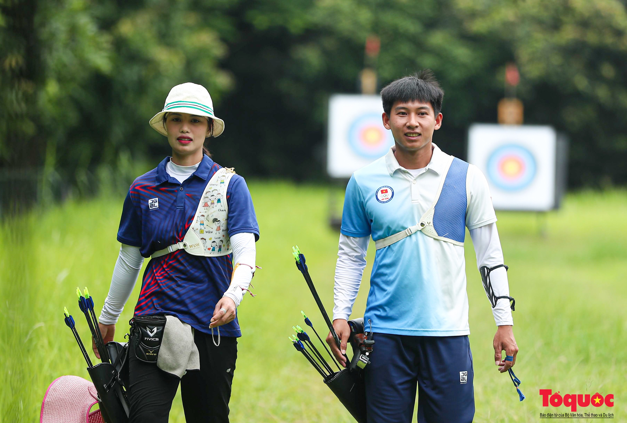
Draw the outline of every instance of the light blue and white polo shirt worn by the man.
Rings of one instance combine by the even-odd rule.
[[[346,188],[342,234],[388,237],[416,225],[431,207],[450,156],[433,146],[428,166],[413,176],[393,148],[356,171]],[[488,184],[472,164],[466,175],[466,227],[496,222]],[[464,248],[422,232],[377,250],[365,321],[372,331],[395,335],[468,335]]]

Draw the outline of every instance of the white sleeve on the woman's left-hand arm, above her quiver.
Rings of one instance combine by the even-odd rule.
[[[139,247],[122,244],[120,247],[120,255],[118,256],[115,267],[113,267],[113,276],[111,277],[111,287],[105,304],[100,312],[98,321],[102,324],[117,323],[124,304],[133,292],[139,270],[144,264],[144,257],[139,252]]]

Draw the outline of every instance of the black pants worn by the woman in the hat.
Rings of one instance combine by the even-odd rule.
[[[237,359],[237,338],[223,336],[215,346],[211,335],[194,331],[200,353],[200,371],[181,379],[181,397],[187,423],[228,423],[231,383]],[[179,378],[156,364],[144,363],[129,351],[129,423],[167,423]]]

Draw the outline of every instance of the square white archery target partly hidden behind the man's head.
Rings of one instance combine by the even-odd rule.
[[[329,99],[327,172],[332,178],[350,178],[394,145],[382,114],[378,95],[333,95]]]

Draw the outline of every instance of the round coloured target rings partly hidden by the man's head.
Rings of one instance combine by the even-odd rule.
[[[381,122],[381,114],[368,113],[357,117],[349,127],[349,144],[364,158],[379,158],[394,145],[392,132]]]

